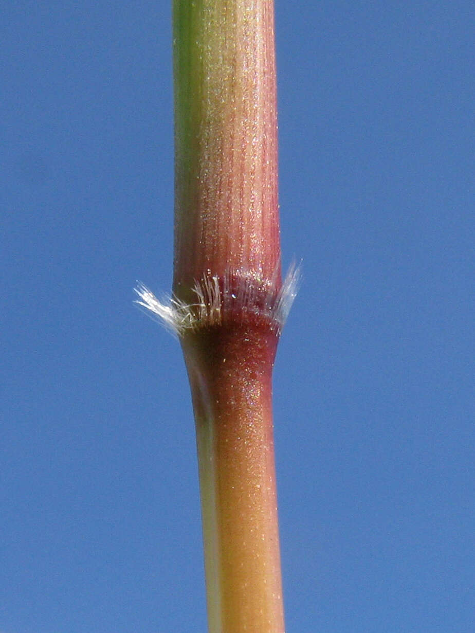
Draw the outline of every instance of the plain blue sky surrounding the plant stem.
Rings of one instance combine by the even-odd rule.
[[[206,630],[170,3],[0,9],[0,631]],[[472,633],[471,2],[276,2],[288,633]]]

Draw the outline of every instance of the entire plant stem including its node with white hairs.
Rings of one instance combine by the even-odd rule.
[[[173,296],[197,434],[210,633],[283,633],[271,379],[281,280],[273,0],[174,0]]]

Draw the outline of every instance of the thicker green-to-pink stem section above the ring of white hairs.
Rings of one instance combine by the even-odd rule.
[[[280,280],[273,0],[173,0],[175,266]]]

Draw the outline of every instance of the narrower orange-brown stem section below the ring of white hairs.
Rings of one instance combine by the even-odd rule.
[[[199,458],[209,633],[283,633],[271,411],[277,339],[252,325],[182,341]]]

